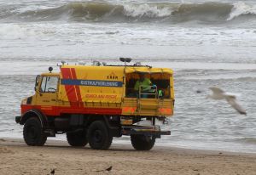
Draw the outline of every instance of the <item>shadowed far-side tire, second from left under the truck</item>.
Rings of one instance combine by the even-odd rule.
[[[67,133],[67,142],[71,146],[85,146],[87,142],[86,130]]]

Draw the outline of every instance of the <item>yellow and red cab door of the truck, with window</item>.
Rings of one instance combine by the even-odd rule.
[[[41,76],[37,105],[49,116],[55,116],[58,82],[59,76]]]

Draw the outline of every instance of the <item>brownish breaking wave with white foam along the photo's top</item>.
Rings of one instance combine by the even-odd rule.
[[[256,17],[249,3],[67,3],[57,8],[1,9],[1,20],[71,20],[81,22],[203,21],[225,23],[241,16]]]

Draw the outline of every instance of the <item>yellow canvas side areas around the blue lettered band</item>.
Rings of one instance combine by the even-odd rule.
[[[64,65],[61,68],[74,68],[78,80],[123,82],[124,68],[122,67]],[[62,75],[61,78],[63,78]],[[79,86],[79,89],[82,101],[85,103],[121,103],[124,90],[123,87],[96,86]],[[62,101],[68,101],[65,85],[60,86],[58,96]]]

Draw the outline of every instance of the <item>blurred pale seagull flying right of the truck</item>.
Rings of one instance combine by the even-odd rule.
[[[244,110],[240,104],[236,101],[236,95],[225,93],[224,90],[217,87],[210,88],[212,90],[212,94],[208,95],[207,98],[210,99],[225,99],[227,102],[235,109],[237,110],[241,115],[247,116],[246,110]]]

